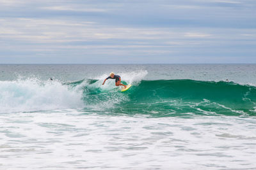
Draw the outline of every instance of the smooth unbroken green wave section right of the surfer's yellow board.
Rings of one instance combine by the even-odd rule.
[[[141,81],[130,97],[160,115],[253,115],[256,106],[255,87],[224,81]]]

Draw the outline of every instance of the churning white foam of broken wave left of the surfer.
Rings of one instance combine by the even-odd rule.
[[[0,113],[54,110],[83,106],[81,91],[70,89],[60,81],[0,81]]]

